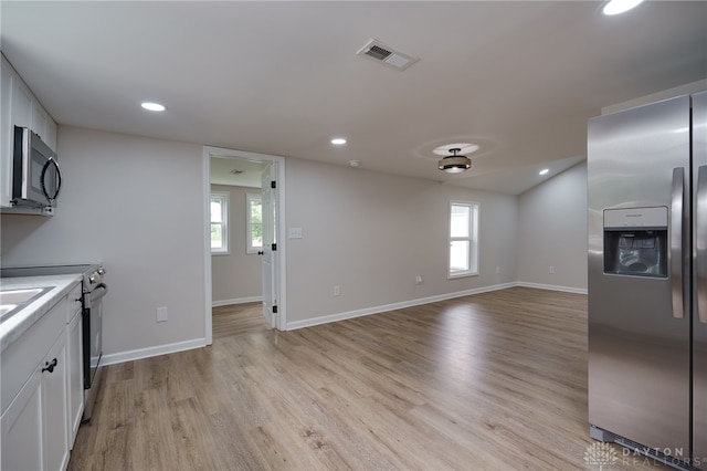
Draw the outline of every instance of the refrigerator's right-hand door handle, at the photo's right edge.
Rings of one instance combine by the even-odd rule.
[[[697,195],[695,196],[695,247],[697,252],[697,315],[707,324],[707,165],[697,169]]]

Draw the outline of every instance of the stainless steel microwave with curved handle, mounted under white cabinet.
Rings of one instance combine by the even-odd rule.
[[[61,188],[56,153],[31,129],[14,126],[12,206],[51,211]]]

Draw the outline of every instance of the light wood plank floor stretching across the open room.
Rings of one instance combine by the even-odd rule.
[[[599,470],[584,295],[514,287],[292,332],[217,336],[217,317],[210,347],[105,369],[71,470]],[[667,469],[616,451],[604,470]]]

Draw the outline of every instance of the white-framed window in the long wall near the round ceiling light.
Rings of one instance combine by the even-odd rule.
[[[447,278],[478,274],[478,203],[450,202]]]

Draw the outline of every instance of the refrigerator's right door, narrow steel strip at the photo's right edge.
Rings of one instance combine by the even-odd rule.
[[[693,457],[707,459],[707,92],[693,95],[695,223],[693,272]]]

